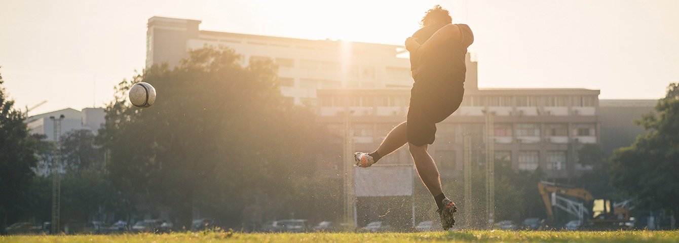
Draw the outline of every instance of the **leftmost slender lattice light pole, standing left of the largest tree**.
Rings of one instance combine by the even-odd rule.
[[[54,159],[52,160],[52,234],[59,233],[59,211],[60,194],[61,194],[61,180],[59,178],[61,170],[61,121],[64,115],[59,115],[59,118],[50,117],[54,124],[54,141],[56,142],[56,151]]]

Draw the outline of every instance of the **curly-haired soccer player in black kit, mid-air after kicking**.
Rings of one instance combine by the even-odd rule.
[[[464,60],[474,36],[466,24],[452,24],[448,11],[440,5],[428,10],[420,24],[422,29],[405,40],[415,80],[406,122],[392,129],[377,150],[354,153],[354,159],[356,166],[369,167],[408,143],[420,179],[439,208],[441,226],[448,230],[455,224],[453,213],[457,208],[443,195],[439,170],[427,145],[434,143],[436,124],[460,107]]]

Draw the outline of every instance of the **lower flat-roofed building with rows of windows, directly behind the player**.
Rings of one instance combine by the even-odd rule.
[[[482,153],[490,113],[496,160],[518,170],[539,166],[548,177],[566,179],[589,169],[577,163],[579,148],[600,141],[598,94],[585,89],[467,90],[460,109],[437,124],[430,153],[442,176],[461,175],[462,137],[471,136],[472,149]],[[318,90],[320,122],[341,136],[344,116],[350,114],[356,151],[372,151],[391,128],[405,121],[409,95],[407,88]],[[396,153],[381,163],[411,163],[406,149]]]

